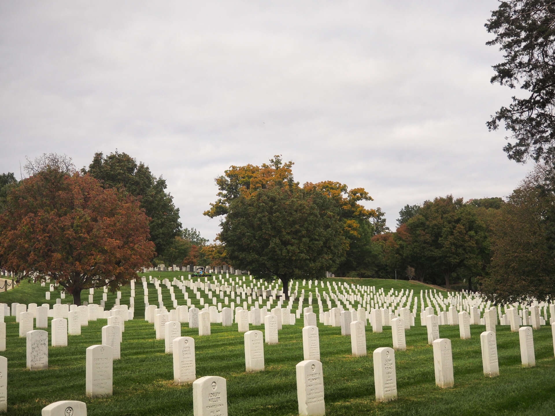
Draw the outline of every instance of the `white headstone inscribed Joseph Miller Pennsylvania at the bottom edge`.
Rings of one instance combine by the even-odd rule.
[[[193,382],[194,416],[228,416],[225,378],[204,376]]]

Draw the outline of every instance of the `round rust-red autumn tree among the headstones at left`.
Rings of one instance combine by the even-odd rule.
[[[9,192],[0,215],[0,263],[19,276],[49,277],[80,305],[82,290],[114,291],[149,265],[148,224],[125,191],[48,168]]]

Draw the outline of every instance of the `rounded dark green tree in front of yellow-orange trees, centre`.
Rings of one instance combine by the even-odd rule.
[[[284,285],[318,278],[346,249],[339,211],[329,197],[296,186],[274,186],[236,197],[221,224],[220,241],[235,267]]]

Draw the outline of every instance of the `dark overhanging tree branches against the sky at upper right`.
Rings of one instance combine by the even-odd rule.
[[[499,45],[503,60],[493,65],[492,83],[519,87],[524,97],[512,97],[487,122],[490,130],[500,123],[511,133],[503,150],[517,162],[553,160],[555,156],[555,9],[552,1],[499,1],[485,24]]]

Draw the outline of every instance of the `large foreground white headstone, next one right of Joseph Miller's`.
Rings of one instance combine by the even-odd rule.
[[[324,402],[324,376],[322,363],[307,359],[296,365],[297,402],[300,416],[323,416],[326,414]]]

